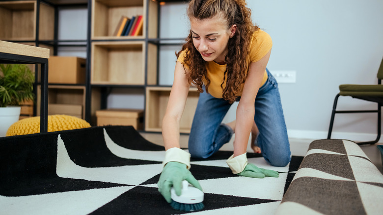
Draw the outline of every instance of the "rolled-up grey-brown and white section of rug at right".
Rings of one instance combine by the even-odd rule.
[[[313,141],[277,215],[382,215],[383,175],[348,140]]]

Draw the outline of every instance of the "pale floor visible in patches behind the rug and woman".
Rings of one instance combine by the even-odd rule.
[[[164,145],[164,141],[162,139],[162,135],[158,133],[141,133],[141,135],[158,145]],[[189,135],[181,134],[180,136],[180,144],[181,147],[187,148],[188,147],[188,138]],[[233,150],[233,140],[231,140],[229,143],[225,144],[221,150],[223,151],[232,151]],[[293,155],[296,156],[304,156],[306,155],[308,146],[314,139],[296,139],[291,138],[290,141],[290,148]],[[379,169],[380,172],[383,173],[383,165],[382,165],[382,157],[381,152],[377,148],[377,145],[383,145],[383,143],[376,143],[375,145],[361,145],[360,148],[363,150],[363,152],[367,155],[367,157],[375,164],[375,166]],[[251,148],[249,147],[250,144],[248,144],[247,151],[252,152]]]

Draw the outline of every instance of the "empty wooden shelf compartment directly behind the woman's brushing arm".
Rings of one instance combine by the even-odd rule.
[[[145,131],[161,132],[171,87],[146,87]],[[190,133],[199,92],[191,87],[180,121],[180,133]]]

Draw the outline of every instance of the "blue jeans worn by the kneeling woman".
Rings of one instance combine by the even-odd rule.
[[[254,121],[259,129],[256,141],[266,161],[274,166],[286,166],[291,153],[278,83],[268,70],[267,73],[268,80],[259,88],[254,103]],[[208,158],[230,141],[234,132],[221,122],[231,105],[206,91],[200,93],[189,136],[193,158]]]

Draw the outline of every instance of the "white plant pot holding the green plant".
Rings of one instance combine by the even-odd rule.
[[[5,136],[8,128],[15,122],[19,121],[20,106],[8,106],[0,108],[0,136]]]

